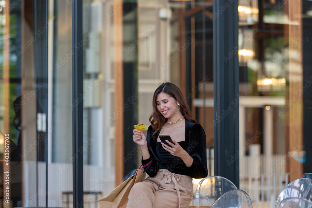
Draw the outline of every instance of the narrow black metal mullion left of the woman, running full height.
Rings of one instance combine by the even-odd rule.
[[[82,1],[72,1],[73,208],[83,208]],[[80,46],[80,47],[77,47]]]

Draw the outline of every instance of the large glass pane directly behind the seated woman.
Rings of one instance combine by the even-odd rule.
[[[141,165],[133,125],[150,125],[163,82],[177,85],[193,118],[213,132],[212,0],[85,1],[83,13],[84,191],[104,196]],[[213,156],[213,133],[206,136]]]

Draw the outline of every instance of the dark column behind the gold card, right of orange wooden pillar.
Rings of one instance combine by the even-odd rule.
[[[132,14],[132,15],[129,15]],[[135,29],[133,29],[135,28]],[[137,153],[140,149],[133,142],[133,125],[138,124],[138,100],[142,93],[138,90],[138,4],[125,1],[123,6],[124,51],[129,55],[124,59],[124,176],[138,166]],[[131,51],[130,51],[131,50]],[[126,55],[124,53],[124,55]],[[131,58],[132,57],[132,58]],[[145,124],[147,125],[147,124]],[[139,163],[141,164],[141,162]],[[124,177],[123,176],[123,177]]]

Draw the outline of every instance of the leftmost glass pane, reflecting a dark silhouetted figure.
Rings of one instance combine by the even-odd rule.
[[[72,206],[71,4],[0,1],[0,17],[1,206]]]

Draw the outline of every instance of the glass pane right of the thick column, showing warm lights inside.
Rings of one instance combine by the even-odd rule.
[[[254,206],[275,206],[289,181],[311,172],[311,9],[306,0],[239,0],[240,188]]]

